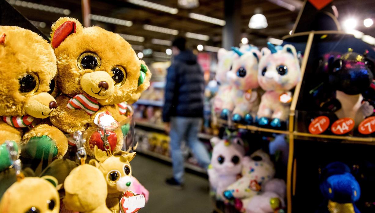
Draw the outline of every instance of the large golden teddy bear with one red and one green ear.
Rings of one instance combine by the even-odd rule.
[[[66,133],[93,129],[86,139],[87,154],[93,156],[102,139],[96,121],[103,113],[113,117],[108,142],[120,150],[123,133],[116,122],[124,119],[118,104],[149,86],[151,73],[120,35],[100,27],[84,28],[74,18],[63,17],[52,25],[51,45],[57,58],[57,85],[62,94],[50,117]],[[107,116],[109,118],[109,116]]]

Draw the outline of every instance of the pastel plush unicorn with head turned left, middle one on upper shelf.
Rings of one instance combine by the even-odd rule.
[[[253,46],[245,46],[244,50],[233,48],[239,59],[233,61],[227,77],[234,92],[228,97],[234,104],[232,120],[252,124],[258,111],[260,96],[258,95],[258,62],[260,52]]]

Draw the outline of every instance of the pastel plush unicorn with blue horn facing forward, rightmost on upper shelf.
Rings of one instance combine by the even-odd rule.
[[[266,91],[257,113],[258,125],[282,128],[289,116],[293,96],[290,90],[301,78],[300,65],[294,46],[284,45],[282,50],[276,50],[268,43],[268,48],[262,49],[258,66],[258,82]]]

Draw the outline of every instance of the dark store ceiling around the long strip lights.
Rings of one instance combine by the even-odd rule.
[[[81,15],[81,1],[78,0],[28,0],[24,1],[7,0],[18,9],[24,16],[32,21],[44,22],[46,26],[39,29],[49,34],[52,22],[57,20],[60,16],[65,16],[55,12],[46,12],[44,10],[34,9],[33,6],[27,3],[37,3],[58,7],[62,9],[69,9],[68,16],[78,18],[82,21]],[[203,21],[198,21],[189,18],[189,13],[198,13],[206,16],[211,16],[218,19],[224,19],[224,1],[220,0],[199,0],[199,7],[195,9],[181,9],[177,5],[177,0],[149,0],[154,3],[163,4],[172,8],[178,8],[177,14],[162,12],[159,10],[150,9],[147,7],[138,6],[128,2],[129,0],[91,0],[91,13],[101,16],[108,16],[112,18],[124,19],[132,21],[132,26],[122,26],[117,24],[108,24],[100,21],[93,21],[92,25],[99,25],[107,30],[116,33],[123,33],[135,36],[144,37],[143,42],[129,41],[139,51],[142,48],[151,48],[154,52],[160,52],[159,56],[163,56],[166,45],[156,45],[152,43],[152,39],[172,40],[175,36],[171,34],[158,33],[154,31],[144,30],[143,25],[154,25],[164,28],[170,28],[179,31],[179,35],[184,35],[186,32],[204,34],[210,37],[208,41],[188,39],[191,46],[198,44],[221,46],[222,42],[222,26],[210,24]],[[233,0],[236,1],[236,0]],[[249,43],[264,46],[269,37],[281,39],[293,28],[299,10],[290,11],[284,7],[278,6],[272,2],[277,0],[242,0],[241,7],[241,25],[242,36],[249,39]],[[283,0],[294,1],[302,3],[302,0]],[[339,21],[343,21],[349,16],[359,19],[357,30],[363,31],[375,37],[375,24],[369,28],[363,26],[362,21],[365,18],[373,18],[375,20],[375,1],[374,0],[361,0],[354,3],[353,0],[335,0],[333,4],[338,8]],[[30,8],[31,7],[31,8]],[[268,21],[268,27],[263,30],[252,30],[248,27],[249,19],[254,15],[254,9],[260,7],[263,14]],[[57,11],[57,10],[56,10]],[[60,11],[61,12],[61,11]],[[35,23],[35,22],[34,22]],[[43,26],[43,24],[41,24]],[[165,55],[166,56],[166,55]]]

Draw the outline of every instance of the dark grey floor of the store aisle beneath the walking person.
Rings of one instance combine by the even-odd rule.
[[[171,165],[137,155],[130,162],[133,175],[150,191],[150,198],[141,213],[210,213],[208,180],[185,173],[185,187],[179,191],[164,184],[172,174]]]

